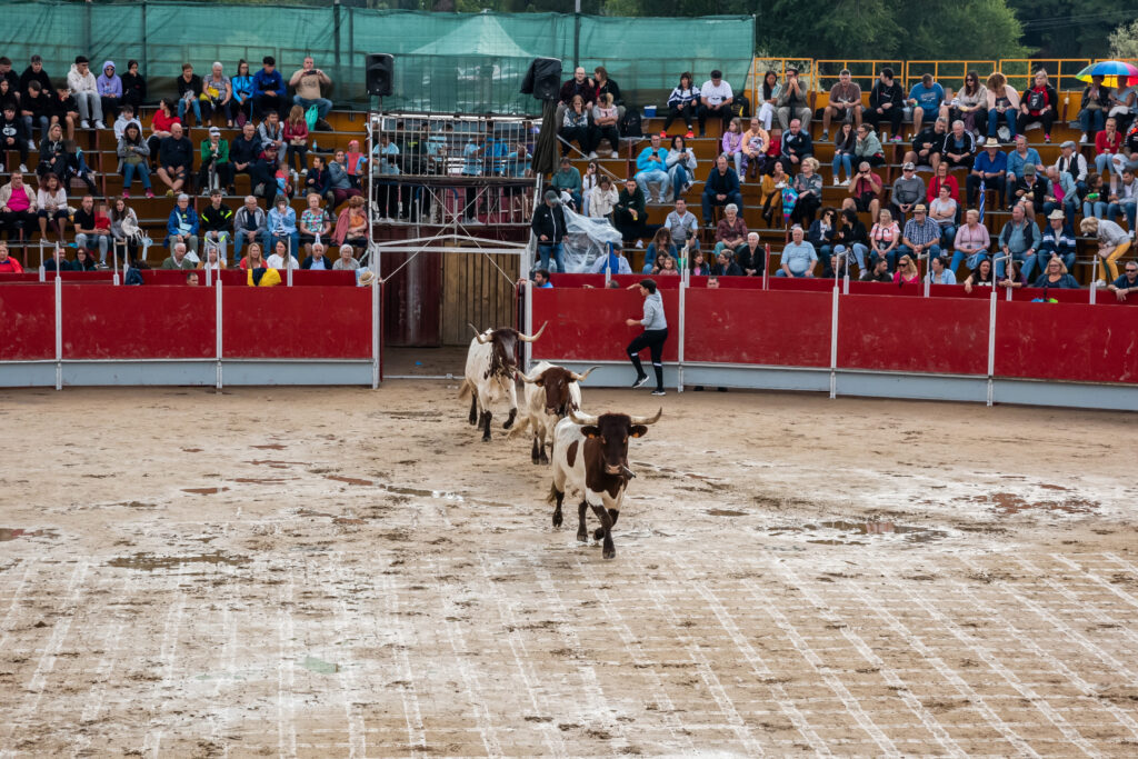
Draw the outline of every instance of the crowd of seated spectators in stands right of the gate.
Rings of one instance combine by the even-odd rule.
[[[912,266],[938,281],[955,282],[958,266],[965,264],[965,282],[1013,286],[1046,280],[1049,287],[1078,287],[1069,275],[1077,229],[1097,242],[1099,284],[1116,281],[1116,262],[1132,251],[1138,86],[1114,91],[1094,77],[1079,104],[1080,141],[1063,142],[1059,157],[1048,165],[1025,134],[1038,127],[1045,143],[1052,140],[1061,104],[1046,71],[1036,72],[1023,92],[998,72],[981,80],[970,71],[954,93],[929,74],[906,92],[887,67],[867,104],[850,72],[842,71],[818,113],[819,142],[833,145],[828,184],[842,188],[844,197],[824,206],[827,182],[818,171],[818,143],[809,131],[818,114],[811,112],[794,67],[789,66],[781,81],[775,72],[765,74],[758,110],[747,122],[723,107],[733,93],[720,72],[712,72],[702,86],[694,81],[688,72],[681,75],[668,98],[663,131],[641,149],[624,189],[597,182],[588,197],[572,196],[578,212],[609,218],[626,244],[640,246],[642,238],[651,237],[648,273],[667,274],[683,265],[696,271],[718,267],[727,274],[756,271],[745,265],[753,261],[745,250],[751,232],[742,220],[742,185],[748,181],[758,183],[758,205],[768,228],[790,228],[791,241],[775,272],[782,277],[813,277],[818,264],[823,275],[833,277],[856,263],[863,279],[907,281]],[[592,82],[578,69],[562,88],[562,98],[569,97],[564,119],[579,122],[574,134],[591,129]],[[686,140],[694,137],[696,121],[703,137],[711,116],[721,117],[724,129],[715,164],[703,175],[700,222],[686,211],[684,196],[698,176]],[[677,119],[684,121],[687,133],[666,145]],[[563,122],[562,137],[569,121]],[[881,173],[888,170],[887,145],[898,146],[897,155],[904,155],[900,176],[891,183]],[[566,151],[568,147],[563,143]],[[1085,150],[1094,151],[1092,159]],[[575,171],[564,159],[559,174]],[[921,175],[925,172],[931,174],[927,180]],[[662,225],[651,225],[651,203],[675,203],[676,211]],[[986,209],[1009,212],[998,234],[981,223]],[[868,214],[869,224],[858,214]],[[692,255],[699,248],[700,225],[714,233],[711,261]],[[669,261],[678,251],[688,255],[678,256],[678,263]],[[984,262],[988,274],[981,275]],[[543,264],[549,264],[547,257]],[[1056,266],[1061,275],[1052,277]]]

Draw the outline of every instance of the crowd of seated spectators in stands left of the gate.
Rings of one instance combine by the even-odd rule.
[[[35,231],[57,242],[58,253],[44,264],[52,271],[106,267],[116,244],[127,261],[143,266],[140,254],[165,246],[165,269],[248,267],[263,250],[279,254],[282,266],[358,267],[354,251],[368,245],[369,220],[349,159],[356,166],[363,162],[344,150],[310,156],[313,132],[331,130],[332,108],[325,97],[332,80],[312,57],[287,81],[272,56],[253,74],[245,60],[232,75],[214,63],[205,77],[185,64],[171,88],[176,98],[159,99],[148,125],[141,115],[151,101],[138,61],[117,72],[115,61],[106,60],[96,74],[85,56],[76,56],[69,71],[52,80],[40,56],[32,56],[23,74],[0,57],[0,160],[3,155],[19,160],[0,187],[0,232],[9,244],[26,245]],[[198,145],[188,138],[191,124],[208,127]],[[231,142],[222,127],[240,134]],[[122,197],[100,197],[76,130],[113,133]],[[32,151],[39,160],[30,171]],[[251,193],[234,209],[224,195],[236,195],[238,174],[249,176]],[[69,195],[74,180],[85,184],[85,193]],[[129,207],[135,183],[148,198],[156,185],[171,198],[164,239],[151,240]],[[190,203],[193,191],[209,198],[200,213]],[[297,216],[289,198],[300,195],[307,208]],[[335,262],[327,257],[333,246],[339,248]],[[0,247],[0,272],[19,267],[8,246]]]

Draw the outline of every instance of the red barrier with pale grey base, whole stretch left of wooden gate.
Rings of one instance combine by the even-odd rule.
[[[271,288],[245,272],[213,287],[176,271],[147,271],[142,287],[76,281],[109,277],[0,284],[0,387],[379,385],[379,288],[355,287],[354,272]]]

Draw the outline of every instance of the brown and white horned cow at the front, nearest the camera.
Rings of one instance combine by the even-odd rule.
[[[646,435],[648,426],[658,422],[662,413],[663,409],[657,411],[654,416],[612,413],[589,416],[570,411],[558,422],[553,431],[553,484],[549,496],[549,502],[555,504],[554,527],[561,527],[561,502],[566,490],[579,490],[577,539],[583,543],[588,541],[585,510],[592,506],[601,520],[593,539],[604,539],[605,559],[617,555],[612,545],[612,526],[620,515],[628,480],[635,477],[628,469],[628,438]]]

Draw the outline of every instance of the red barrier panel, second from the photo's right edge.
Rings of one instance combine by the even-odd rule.
[[[842,296],[838,366],[987,374],[989,311],[987,299]]]

